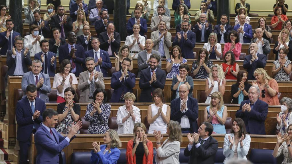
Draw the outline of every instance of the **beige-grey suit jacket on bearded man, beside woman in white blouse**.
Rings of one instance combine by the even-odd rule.
[[[88,83],[89,75],[88,71],[81,72],[79,74],[78,90],[81,92],[79,102],[88,102],[90,95],[90,83]],[[105,83],[103,82],[103,74],[98,72],[98,81],[94,83],[94,87],[105,89]]]

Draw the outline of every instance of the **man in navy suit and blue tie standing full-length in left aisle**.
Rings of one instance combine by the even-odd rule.
[[[26,88],[26,97],[22,98],[16,104],[16,121],[18,124],[17,140],[20,147],[19,163],[27,163],[28,148],[31,140],[30,136],[38,130],[39,125],[43,122],[42,113],[46,109],[46,103],[36,97],[37,89],[34,84]]]

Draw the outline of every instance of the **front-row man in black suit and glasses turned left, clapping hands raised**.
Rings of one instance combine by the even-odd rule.
[[[184,155],[190,156],[189,164],[214,163],[218,142],[211,136],[212,132],[212,124],[203,122],[198,129],[198,133],[187,134],[189,145],[185,148]]]

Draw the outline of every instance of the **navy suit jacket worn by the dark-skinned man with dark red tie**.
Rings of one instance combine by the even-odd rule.
[[[78,44],[75,44],[75,48],[77,49],[75,52],[76,58],[73,59],[76,64],[75,76],[79,77],[79,74],[83,72],[82,65],[85,65],[85,51],[84,48]],[[68,44],[59,47],[59,63],[61,63],[64,59],[71,60]]]

